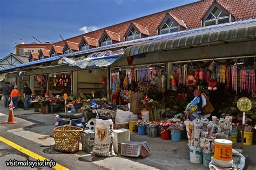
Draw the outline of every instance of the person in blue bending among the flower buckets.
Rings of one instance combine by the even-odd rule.
[[[198,89],[194,90],[194,98],[186,108],[186,114],[189,114],[190,121],[193,121],[195,118],[203,118],[204,116],[201,114],[201,108],[206,105],[206,98],[203,94],[200,93]],[[192,109],[197,104],[197,109],[190,113],[190,109]]]

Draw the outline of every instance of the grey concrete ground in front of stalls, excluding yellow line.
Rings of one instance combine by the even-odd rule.
[[[3,108],[0,101],[0,123],[8,119],[9,109]],[[171,140],[161,140],[131,134],[132,141],[147,141],[151,152],[146,158],[118,157],[103,158],[79,151],[75,154],[58,153],[53,150],[54,140],[52,129],[55,127],[55,118],[52,114],[43,115],[33,113],[33,109],[15,111],[17,124],[0,124],[0,136],[27,148],[28,150],[42,155],[44,158],[53,159],[58,164],[69,169],[93,168],[93,169],[206,169],[203,164],[192,164],[189,161],[187,140],[178,143]],[[239,146],[239,145],[237,145]],[[249,155],[248,169],[256,167],[255,145],[244,146],[244,153]],[[0,169],[5,166],[5,160],[10,158],[25,160],[28,157],[14,148],[0,141]],[[41,168],[41,167],[40,167]],[[47,167],[44,167],[44,169]],[[7,168],[11,169],[11,168]]]

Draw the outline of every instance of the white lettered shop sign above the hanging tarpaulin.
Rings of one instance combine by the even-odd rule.
[[[85,60],[95,60],[95,59],[102,59],[102,58],[111,58],[114,55],[121,55],[124,54],[124,48],[118,49],[117,51],[103,51],[103,52],[96,52],[89,54]]]

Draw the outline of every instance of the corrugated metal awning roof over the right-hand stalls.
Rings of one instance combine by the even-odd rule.
[[[165,37],[147,40],[125,49],[124,56],[155,52],[163,49],[201,45],[217,41],[226,41],[256,36],[256,19],[241,20],[233,23],[201,27],[166,34]]]

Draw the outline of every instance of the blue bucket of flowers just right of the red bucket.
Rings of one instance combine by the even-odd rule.
[[[180,141],[181,130],[184,130],[185,124],[183,122],[172,123],[168,129],[171,130],[172,141]]]

